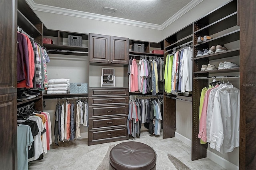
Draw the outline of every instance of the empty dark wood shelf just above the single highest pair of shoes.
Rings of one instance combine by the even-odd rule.
[[[194,32],[194,34],[197,34],[198,36],[209,36],[215,33],[218,33],[222,30],[226,30],[228,28],[231,28],[233,26],[236,26],[236,18],[237,18],[237,12],[234,12],[224,18],[221,18],[220,20],[213,22],[212,24],[209,24],[208,26],[205,26],[197,31]],[[195,27],[196,27],[195,23]]]

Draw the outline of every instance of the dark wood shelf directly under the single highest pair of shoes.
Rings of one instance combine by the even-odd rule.
[[[207,40],[205,42],[202,42],[200,44],[194,45],[194,47],[198,48],[199,50],[204,48],[209,48],[212,45],[216,46],[218,44],[223,45],[225,43],[230,43],[240,40],[240,29],[234,30],[232,32],[229,32],[227,34],[212,38],[210,40]]]

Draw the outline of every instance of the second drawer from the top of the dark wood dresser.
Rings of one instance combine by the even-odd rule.
[[[89,106],[93,105],[114,105],[128,104],[127,97],[89,97]]]

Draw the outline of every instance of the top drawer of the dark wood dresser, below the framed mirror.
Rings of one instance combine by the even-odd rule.
[[[89,97],[98,96],[129,96],[128,88],[96,88],[89,89]]]

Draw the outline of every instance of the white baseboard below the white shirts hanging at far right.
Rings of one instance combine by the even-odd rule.
[[[217,154],[211,152],[210,150],[207,150],[207,158],[215,162],[216,164],[219,164],[223,168],[227,170],[238,170],[239,167],[235,164],[232,164],[228,160],[222,158],[221,156],[218,156]]]

